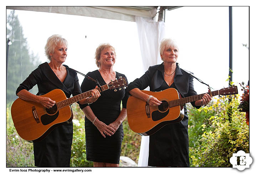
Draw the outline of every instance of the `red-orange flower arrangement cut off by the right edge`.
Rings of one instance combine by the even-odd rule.
[[[242,91],[244,91],[244,93],[242,94],[242,99],[240,100],[241,103],[239,104],[239,107],[237,109],[239,109],[240,112],[245,112],[245,118],[246,118],[246,124],[249,126],[249,85],[248,86],[244,86],[244,82],[239,83],[240,86],[242,87]],[[249,82],[248,82],[249,84]]]

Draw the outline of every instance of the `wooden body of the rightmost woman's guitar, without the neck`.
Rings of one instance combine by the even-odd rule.
[[[166,124],[178,123],[184,117],[180,114],[180,106],[169,108],[167,102],[179,99],[179,93],[174,88],[161,92],[142,92],[156,97],[163,102],[159,106],[148,105],[145,101],[130,96],[127,101],[127,118],[130,128],[140,135],[152,135]]]

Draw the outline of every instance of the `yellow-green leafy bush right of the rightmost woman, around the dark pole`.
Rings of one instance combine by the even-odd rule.
[[[198,110],[207,114],[206,120],[201,124],[203,133],[199,133],[198,136],[201,136],[197,143],[191,143],[189,147],[191,167],[232,167],[229,159],[233,153],[239,150],[249,153],[249,127],[245,123],[245,114],[237,109],[238,105],[239,100],[236,97],[231,102],[222,97],[217,99],[212,107]],[[196,127],[198,129],[199,126]],[[191,129],[190,132],[193,135],[195,131]],[[192,138],[191,135],[190,138]],[[191,141],[195,142],[195,138]],[[196,147],[195,144],[197,144]]]

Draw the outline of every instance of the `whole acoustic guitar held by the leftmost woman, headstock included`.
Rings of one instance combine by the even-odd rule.
[[[120,77],[106,85],[97,88],[99,92],[107,89],[127,87],[125,78]],[[101,88],[101,89],[100,89]],[[66,98],[61,89],[53,89],[42,97],[49,97],[55,100],[55,105],[48,109],[40,103],[31,102],[17,98],[11,106],[11,116],[15,129],[19,136],[30,142],[41,141],[55,127],[68,124],[73,119],[71,104],[92,96],[92,90],[77,96]]]

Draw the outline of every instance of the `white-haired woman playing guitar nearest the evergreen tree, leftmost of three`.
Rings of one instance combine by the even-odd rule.
[[[62,65],[67,58],[67,40],[60,35],[52,35],[47,39],[45,54],[50,60],[31,72],[29,77],[20,84],[16,94],[21,99],[40,103],[45,108],[52,108],[55,101],[48,97],[41,97],[53,89],[62,89],[67,98],[71,94],[81,93],[77,74]],[[36,95],[29,92],[33,86],[38,86]],[[94,86],[95,87],[95,86]],[[90,89],[91,90],[91,89]],[[80,100],[80,104],[95,102],[100,93],[93,89],[92,97]],[[34,142],[35,166],[38,167],[69,167],[71,158],[71,145],[73,137],[73,123],[56,127],[42,141]]]

